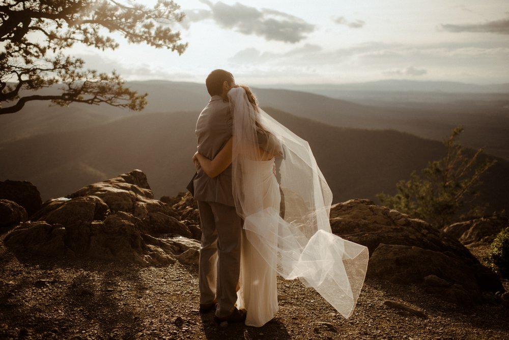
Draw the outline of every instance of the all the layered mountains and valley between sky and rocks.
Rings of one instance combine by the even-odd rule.
[[[156,197],[184,190],[194,172],[190,157],[196,118],[209,99],[205,86],[165,81],[131,86],[149,93],[145,111],[32,103],[22,112],[0,116],[0,180],[32,181],[48,199],[140,168]],[[309,141],[334,202],[393,193],[396,182],[444,155],[439,141],[411,135],[411,129],[440,138],[456,119],[464,119],[471,124],[465,124],[465,136],[471,129],[480,139],[498,140],[501,151],[509,150],[509,141],[503,139],[509,124],[499,115],[444,112],[440,117],[296,91],[255,92],[269,114]],[[500,159],[484,179],[483,200],[494,210],[509,208],[507,174],[509,164]]]

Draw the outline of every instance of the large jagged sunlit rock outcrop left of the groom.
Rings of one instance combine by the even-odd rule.
[[[44,203],[5,238],[20,253],[143,265],[195,263],[199,242],[178,213],[154,200],[145,174],[127,174]]]

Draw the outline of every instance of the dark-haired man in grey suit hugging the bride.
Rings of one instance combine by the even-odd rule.
[[[230,72],[212,71],[206,81],[211,98],[196,122],[198,151],[213,159],[232,136],[228,91],[235,85]],[[201,168],[194,179],[194,200],[202,224],[200,247],[200,313],[215,311],[216,322],[245,320],[235,307],[240,273],[241,220],[232,194],[232,166],[210,178]]]

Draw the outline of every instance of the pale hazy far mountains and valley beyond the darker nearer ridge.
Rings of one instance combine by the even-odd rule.
[[[141,93],[149,93],[149,104],[144,111],[76,104],[67,109],[48,107],[47,103],[30,103],[22,112],[0,116],[0,143],[36,133],[93,126],[130,115],[199,112],[209,99],[205,84],[199,83],[158,80],[131,82],[130,86]],[[311,85],[303,90],[312,89]],[[254,92],[262,107],[338,127],[394,129],[441,140],[454,127],[463,125],[465,132],[461,141],[464,145],[485,147],[486,152],[509,159],[509,93],[432,93],[426,94],[432,97],[425,98],[418,92],[392,92],[392,97],[359,92],[355,98],[345,100],[326,96],[326,93],[283,89],[254,88]]]

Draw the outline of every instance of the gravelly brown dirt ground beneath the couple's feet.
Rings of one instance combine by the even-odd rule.
[[[261,328],[198,312],[197,268],[16,258],[0,236],[0,339],[509,339],[509,308],[461,308],[419,287],[365,281],[345,319],[300,281],[278,278],[279,311]],[[509,284],[504,281],[509,289]],[[417,317],[384,304],[423,311]]]

